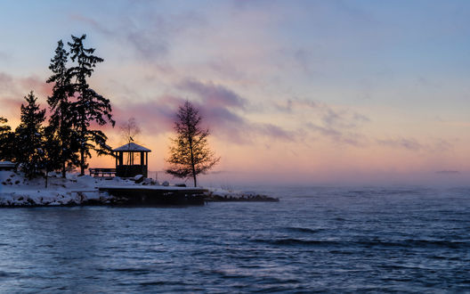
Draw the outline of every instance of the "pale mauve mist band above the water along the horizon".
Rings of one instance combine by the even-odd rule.
[[[158,181],[170,183],[183,183],[181,179],[166,175],[163,171],[150,171],[150,177]],[[236,186],[239,188],[256,187],[260,185],[278,187],[283,189],[287,186],[294,187],[458,187],[467,186],[469,172],[456,170],[435,170],[420,172],[383,172],[373,170],[344,170],[344,171],[322,171],[320,174],[303,173],[302,171],[288,172],[284,169],[272,169],[263,172],[241,172],[241,171],[216,171],[207,175],[199,176],[199,184],[203,186],[220,187]],[[190,181],[185,182],[188,185]]]

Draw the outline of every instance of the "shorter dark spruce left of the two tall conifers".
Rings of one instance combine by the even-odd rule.
[[[36,176],[42,157],[42,123],[45,121],[45,110],[36,103],[33,91],[24,97],[27,104],[21,104],[21,122],[15,131],[16,161],[20,164],[25,176]]]

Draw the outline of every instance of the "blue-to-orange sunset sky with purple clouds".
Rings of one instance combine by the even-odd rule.
[[[57,41],[86,34],[91,87],[135,118],[150,170],[199,107],[218,184],[467,184],[468,1],[0,0],[0,116],[39,102]],[[109,157],[90,167],[112,167]],[[150,174],[151,176],[151,174]]]

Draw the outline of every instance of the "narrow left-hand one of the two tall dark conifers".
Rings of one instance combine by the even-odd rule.
[[[47,103],[51,110],[49,124],[54,134],[48,134],[58,138],[60,148],[56,150],[56,157],[61,162],[62,177],[65,177],[67,165],[78,166],[77,132],[73,128],[75,111],[69,97],[74,94],[74,88],[70,83],[70,72],[67,69],[69,53],[64,49],[62,40],[57,43],[55,55],[51,60],[49,69],[53,75],[47,79],[47,83],[54,83],[53,94],[47,97]],[[58,168],[58,169],[59,169]]]

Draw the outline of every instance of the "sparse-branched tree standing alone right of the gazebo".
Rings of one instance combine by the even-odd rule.
[[[171,139],[173,145],[170,146],[170,157],[166,159],[170,167],[166,173],[180,178],[192,177],[196,187],[196,176],[206,173],[220,158],[215,158],[208,147],[209,130],[200,127],[202,117],[198,109],[187,101],[180,106],[176,116],[176,137]]]

